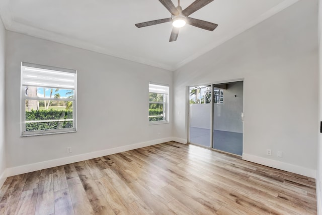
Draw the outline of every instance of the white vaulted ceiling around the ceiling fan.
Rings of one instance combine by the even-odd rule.
[[[297,1],[215,0],[190,17],[218,27],[211,32],[186,25],[175,42],[169,42],[171,22],[134,26],[171,17],[158,0],[0,0],[0,16],[10,31],[176,70]]]

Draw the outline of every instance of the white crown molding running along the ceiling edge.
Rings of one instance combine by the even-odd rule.
[[[58,34],[55,32],[48,31],[48,30],[44,30],[44,29],[35,28],[32,26],[27,26],[22,23],[16,22],[12,13],[11,13],[12,10],[10,8],[10,0],[0,1],[0,17],[4,23],[6,30],[8,30],[8,31],[13,31],[13,32],[37,37],[40,39],[45,39],[45,40],[49,40],[49,41],[53,41],[53,42],[81,48],[81,49],[86,49],[86,50],[98,52],[101,54],[106,54],[109,56],[133,61],[136,63],[141,63],[141,64],[145,64],[148,66],[153,66],[153,67],[165,69],[168,71],[176,71],[179,68],[181,68],[182,66],[193,61],[194,59],[202,56],[203,54],[209,52],[210,50],[216,48],[217,46],[232,39],[233,37],[247,31],[248,29],[250,29],[250,28],[254,27],[255,25],[263,22],[264,20],[272,17],[273,15],[279,13],[280,11],[297,3],[298,1],[299,0],[285,0],[285,1],[283,1],[282,3],[273,7],[272,9],[267,11],[266,13],[259,16],[257,19],[252,20],[251,22],[246,23],[243,26],[240,26],[240,28],[232,31],[229,35],[222,38],[221,40],[214,41],[213,43],[208,44],[206,47],[202,48],[200,51],[194,53],[190,57],[188,57],[185,60],[183,60],[177,64],[174,64],[174,65],[160,63],[160,62],[149,60],[149,59],[142,58],[139,56],[133,56],[133,55],[128,55],[128,54],[124,54],[124,53],[119,53],[115,50],[110,51],[111,49],[109,49],[108,47],[101,47],[101,46],[98,46],[98,45],[95,45],[95,44],[92,44],[92,43],[89,43],[89,42],[86,42],[83,40],[74,39],[74,38],[68,37],[66,35]]]

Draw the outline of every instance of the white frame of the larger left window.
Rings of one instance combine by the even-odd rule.
[[[73,88],[73,98],[49,98],[49,97],[28,97],[25,94],[25,87],[26,85],[23,85],[23,66],[26,67],[32,67],[35,69],[46,69],[46,70],[53,70],[53,71],[59,71],[59,72],[68,72],[75,74],[74,78],[74,88]],[[45,66],[45,65],[39,65],[34,63],[26,63],[21,62],[21,82],[20,82],[20,88],[21,88],[21,94],[20,94],[20,102],[21,102],[21,137],[26,136],[38,136],[38,135],[49,135],[49,134],[63,134],[63,133],[71,133],[71,132],[77,132],[77,70],[75,69],[66,69],[66,68],[59,68],[59,67],[53,67],[53,66]],[[30,87],[41,87],[36,85],[28,85]],[[53,87],[44,87],[44,88],[59,88],[56,86]],[[59,89],[66,89],[64,87],[61,87]],[[63,129],[47,129],[47,130],[37,130],[37,131],[26,131],[26,100],[46,100],[46,101],[72,101],[72,121],[73,121],[73,128],[63,128]],[[51,120],[47,120],[47,122],[51,122]],[[58,120],[54,120],[53,122],[59,122]]]

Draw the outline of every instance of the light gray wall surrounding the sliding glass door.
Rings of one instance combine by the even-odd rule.
[[[174,136],[187,139],[187,86],[244,78],[243,158],[315,177],[317,62],[317,1],[301,0],[175,72]]]

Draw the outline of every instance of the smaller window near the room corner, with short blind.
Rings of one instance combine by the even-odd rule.
[[[149,83],[149,124],[169,122],[169,86]]]

